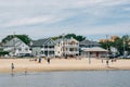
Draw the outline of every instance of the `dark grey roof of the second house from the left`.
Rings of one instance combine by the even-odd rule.
[[[43,46],[43,45],[47,45],[47,42],[50,40],[53,42],[53,40],[51,38],[43,38],[43,39],[39,39],[39,40],[34,40],[32,46],[38,46],[38,47]],[[52,45],[52,42],[50,45]],[[53,42],[53,45],[54,45],[54,42]]]

